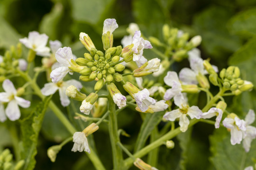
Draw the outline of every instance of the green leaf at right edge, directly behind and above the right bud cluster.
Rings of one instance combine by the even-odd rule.
[[[229,65],[238,66],[242,78],[256,85],[256,38],[249,40],[229,58]]]

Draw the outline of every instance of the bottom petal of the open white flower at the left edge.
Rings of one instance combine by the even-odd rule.
[[[5,114],[11,121],[15,121],[20,118],[20,110],[16,100],[12,100],[8,103],[5,109]]]

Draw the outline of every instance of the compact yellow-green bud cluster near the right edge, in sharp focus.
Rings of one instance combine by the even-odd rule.
[[[251,82],[240,78],[240,70],[238,67],[229,66],[227,69],[223,68],[219,76],[223,80],[223,87],[230,90],[235,95],[253,88]]]

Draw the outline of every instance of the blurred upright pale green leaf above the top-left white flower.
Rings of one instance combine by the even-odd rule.
[[[63,5],[56,3],[52,11],[46,14],[40,23],[39,31],[49,36],[49,39],[56,40],[59,34],[59,22],[63,16]]]

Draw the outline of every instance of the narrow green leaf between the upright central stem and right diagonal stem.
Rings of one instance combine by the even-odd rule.
[[[165,112],[157,112],[157,113],[147,113],[146,118],[144,119],[138,137],[137,141],[134,147],[134,152],[136,153],[139,151],[144,144],[146,143],[146,139],[151,134],[152,130],[155,128],[156,125],[162,120]]]

